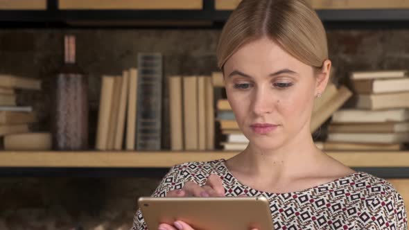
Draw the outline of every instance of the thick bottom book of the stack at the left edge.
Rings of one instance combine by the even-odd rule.
[[[4,136],[4,150],[51,150],[52,141],[49,132],[27,132]]]

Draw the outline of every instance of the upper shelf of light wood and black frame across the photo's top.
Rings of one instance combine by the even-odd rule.
[[[311,1],[327,28],[409,28],[408,1]],[[153,0],[149,3],[144,0],[4,0],[0,1],[0,25],[33,28],[50,25],[221,28],[239,2],[240,0]],[[159,21],[159,24],[153,24],[152,21]],[[169,25],[166,21],[177,23]],[[186,21],[196,23],[186,24]]]

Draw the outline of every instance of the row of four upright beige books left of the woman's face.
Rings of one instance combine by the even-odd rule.
[[[210,76],[171,76],[171,150],[214,150],[214,88]]]

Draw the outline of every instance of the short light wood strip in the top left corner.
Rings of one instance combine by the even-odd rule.
[[[46,10],[46,0],[0,0],[0,10]]]

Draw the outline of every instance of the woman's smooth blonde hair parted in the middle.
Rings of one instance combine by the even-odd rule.
[[[277,42],[311,67],[328,59],[327,35],[315,10],[304,0],[243,0],[227,20],[217,47],[218,67],[238,48],[261,37]]]

